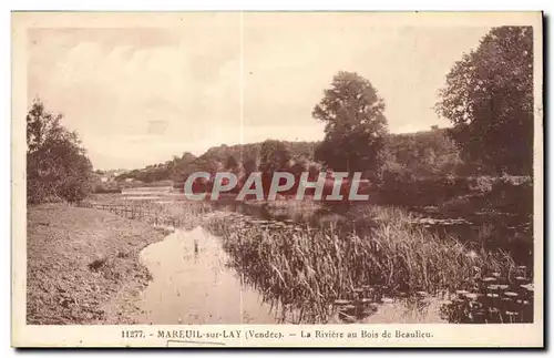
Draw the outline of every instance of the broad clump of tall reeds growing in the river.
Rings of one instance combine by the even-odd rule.
[[[235,267],[283,310],[300,311],[300,321],[326,321],[337,299],[353,299],[363,287],[396,293],[455,291],[480,275],[513,265],[453,237],[441,238],[409,224],[399,208],[375,209],[378,225],[359,235],[324,229],[249,225],[214,218]],[[382,296],[382,295],[381,295]]]

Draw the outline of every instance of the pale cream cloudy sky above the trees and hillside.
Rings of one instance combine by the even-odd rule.
[[[448,126],[433,111],[453,63],[486,27],[363,16],[219,13],[179,27],[35,28],[28,101],[75,130],[95,168],[135,168],[211,146],[318,141],[311,116],[339,71],[368,79],[393,133]]]

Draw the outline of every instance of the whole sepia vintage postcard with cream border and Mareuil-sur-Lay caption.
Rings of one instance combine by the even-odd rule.
[[[16,347],[543,347],[541,12],[13,12]]]

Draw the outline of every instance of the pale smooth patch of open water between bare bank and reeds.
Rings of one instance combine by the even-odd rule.
[[[141,260],[153,276],[141,296],[141,323],[276,323],[261,296],[242,285],[237,273],[226,266],[218,238],[201,227],[177,229],[144,248]]]

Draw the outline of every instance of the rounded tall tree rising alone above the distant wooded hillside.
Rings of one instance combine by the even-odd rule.
[[[325,123],[325,139],[316,160],[337,172],[372,172],[380,166],[387,134],[384,101],[373,85],[353,72],[339,72],[314,109]]]

